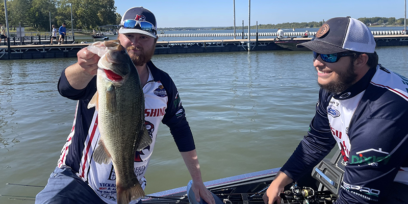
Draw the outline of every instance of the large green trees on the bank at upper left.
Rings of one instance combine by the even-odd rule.
[[[51,24],[58,29],[63,22],[71,27],[71,5],[74,29],[98,30],[99,25],[119,24],[121,15],[116,12],[114,0],[8,0],[7,17],[9,27],[15,30],[32,27],[38,31],[49,31]],[[0,22],[6,25],[4,1],[0,1]]]

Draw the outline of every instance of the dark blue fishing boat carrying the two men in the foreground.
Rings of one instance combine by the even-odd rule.
[[[337,199],[340,183],[343,179],[345,164],[340,151],[333,159],[324,159],[313,171],[305,174],[298,182],[285,188],[280,195],[281,203],[333,203]],[[252,172],[224,179],[205,182],[217,204],[264,203],[262,196],[274,180],[280,168]],[[185,187],[146,195],[143,204],[205,204],[197,202],[191,190],[190,181]]]

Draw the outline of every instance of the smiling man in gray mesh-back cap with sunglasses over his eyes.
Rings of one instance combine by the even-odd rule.
[[[264,202],[280,203],[284,187],[337,144],[346,166],[336,203],[406,203],[391,194],[406,196],[408,185],[408,79],[378,64],[373,35],[354,18],[327,20],[303,46],[321,88],[316,114]]]

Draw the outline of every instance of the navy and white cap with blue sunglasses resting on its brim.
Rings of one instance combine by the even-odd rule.
[[[147,30],[142,30],[138,28],[124,28],[123,24],[125,23],[126,20],[137,20],[137,21],[145,21],[148,22],[152,25],[152,30],[147,31]],[[126,12],[124,12],[122,19],[120,20],[120,29],[119,33],[124,34],[124,33],[140,33],[140,34],[145,34],[148,36],[151,36],[153,38],[157,38],[156,31],[157,31],[157,22],[156,22],[156,17],[151,11],[148,9],[145,9],[143,7],[133,7],[128,9]],[[140,27],[139,27],[140,28]]]

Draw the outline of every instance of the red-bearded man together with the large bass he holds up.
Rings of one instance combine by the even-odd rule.
[[[197,201],[215,203],[201,179],[177,88],[150,61],[156,28],[154,14],[131,8],[122,17],[117,41],[80,50],[78,62],[62,72],[58,90],[78,105],[58,166],[36,203],[141,202],[160,122],[170,128]]]

